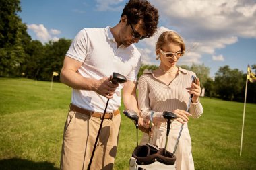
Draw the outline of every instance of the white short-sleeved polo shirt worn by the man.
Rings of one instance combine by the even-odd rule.
[[[131,44],[117,48],[117,43],[106,28],[85,28],[73,40],[66,56],[82,62],[78,72],[83,77],[102,79],[110,77],[113,72],[124,75],[129,81],[137,81],[141,65],[141,54]],[[121,105],[121,89],[117,87],[113,98],[109,100],[106,112],[117,110]],[[107,98],[94,91],[73,89],[71,102],[80,108],[95,112],[104,112]]]

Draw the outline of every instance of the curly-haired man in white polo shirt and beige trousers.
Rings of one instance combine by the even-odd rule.
[[[146,0],[131,0],[111,28],[86,28],[73,40],[63,62],[61,81],[73,88],[63,134],[61,169],[87,169],[102,113],[106,116],[91,169],[113,169],[121,122],[121,89],[125,108],[137,112],[136,81],[141,55],[133,43],[156,32],[158,10]],[[115,85],[113,72],[127,78]],[[145,126],[140,119],[140,127]]]

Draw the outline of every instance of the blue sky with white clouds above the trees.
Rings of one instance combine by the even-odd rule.
[[[124,0],[21,0],[18,13],[34,40],[48,42],[73,39],[83,28],[115,26]],[[135,44],[143,63],[159,65],[154,46],[164,30],[183,36],[187,52],[179,65],[210,67],[213,77],[219,67],[229,65],[246,73],[256,64],[256,0],[152,0],[160,13],[158,32]]]

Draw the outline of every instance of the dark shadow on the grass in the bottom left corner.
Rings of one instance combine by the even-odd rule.
[[[0,160],[1,170],[57,170],[53,163],[49,162],[34,162],[28,159],[11,158]]]

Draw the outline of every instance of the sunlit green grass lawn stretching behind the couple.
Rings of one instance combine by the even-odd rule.
[[[71,89],[62,83],[0,78],[0,169],[59,169]],[[201,98],[204,113],[189,120],[195,169],[256,169],[256,105]],[[121,106],[123,110],[123,105]],[[129,169],[135,126],[122,114],[114,169]],[[139,133],[139,138],[141,137]]]

